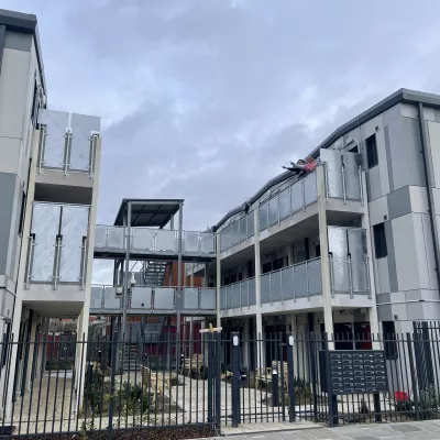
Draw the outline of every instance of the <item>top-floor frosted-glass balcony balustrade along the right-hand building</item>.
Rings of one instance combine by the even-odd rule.
[[[361,160],[361,155],[355,153],[321,151],[327,200],[362,201]],[[317,200],[317,170],[314,170],[260,205],[260,232],[306,210]],[[244,242],[254,235],[254,212],[233,221],[219,233],[220,252]]]

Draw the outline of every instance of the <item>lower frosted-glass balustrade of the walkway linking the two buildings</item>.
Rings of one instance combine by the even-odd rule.
[[[175,315],[177,312],[175,287],[133,287],[129,294],[130,315]],[[182,289],[183,315],[215,315],[216,289],[210,287],[184,287]],[[91,315],[122,314],[122,299],[113,286],[92,286]]]

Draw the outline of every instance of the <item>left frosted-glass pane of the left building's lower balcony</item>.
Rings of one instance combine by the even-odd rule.
[[[33,206],[31,231],[35,235],[35,241],[31,279],[34,282],[53,280],[61,211],[58,205],[35,202]]]

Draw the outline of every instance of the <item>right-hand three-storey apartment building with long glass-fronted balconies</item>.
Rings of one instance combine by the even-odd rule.
[[[440,319],[440,96],[400,89],[311,155],[314,172],[276,176],[213,227],[218,324],[354,349]]]

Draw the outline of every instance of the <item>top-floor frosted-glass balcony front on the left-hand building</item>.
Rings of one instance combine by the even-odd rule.
[[[100,118],[41,109],[38,173],[43,168],[94,176]]]

